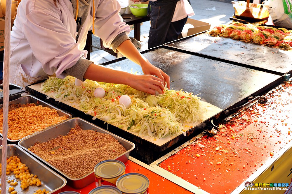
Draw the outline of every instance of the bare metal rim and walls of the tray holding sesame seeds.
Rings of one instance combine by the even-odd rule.
[[[40,161],[42,161],[43,163],[45,163],[46,165],[54,169],[63,177],[65,177],[69,186],[79,189],[79,188],[83,188],[87,186],[88,184],[92,183],[95,180],[93,171],[89,172],[88,174],[84,175],[83,177],[79,179],[73,179],[71,177],[68,177],[66,174],[58,170],[56,167],[54,167],[50,163],[46,162],[44,159],[40,158],[39,156],[37,156],[36,154],[28,150],[28,148],[34,145],[36,142],[47,142],[51,139],[57,138],[59,135],[67,135],[70,129],[74,128],[77,124],[81,127],[82,130],[87,130],[87,129],[96,130],[100,133],[110,134],[114,138],[116,138],[127,150],[126,152],[124,152],[123,154],[115,158],[116,160],[119,160],[123,163],[125,163],[128,160],[130,152],[135,148],[135,144],[133,144],[132,142],[129,142],[128,140],[125,140],[117,135],[114,135],[81,118],[71,118],[71,119],[66,120],[65,122],[56,124],[55,126],[50,127],[48,130],[41,131],[40,133],[36,133],[34,135],[31,135],[30,137],[26,137],[23,140],[20,140],[18,142],[18,145],[22,147],[25,151],[28,151],[30,154],[38,158]]]

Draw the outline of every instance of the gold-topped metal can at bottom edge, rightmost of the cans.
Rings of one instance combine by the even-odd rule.
[[[128,173],[117,180],[123,194],[149,194],[149,179],[140,173]]]

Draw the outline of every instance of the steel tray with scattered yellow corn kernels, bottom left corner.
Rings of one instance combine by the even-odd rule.
[[[2,150],[1,146],[1,160]],[[15,144],[7,145],[7,169],[9,169],[9,172],[6,172],[8,193],[13,191],[26,194],[59,193],[66,185],[66,179]]]

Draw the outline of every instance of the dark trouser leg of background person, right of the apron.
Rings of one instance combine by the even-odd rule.
[[[183,31],[183,27],[184,27],[186,22],[187,22],[187,17],[185,17],[182,20],[171,22],[170,27],[167,31],[164,43],[168,43],[168,42],[171,42],[173,40],[177,40],[178,36]]]

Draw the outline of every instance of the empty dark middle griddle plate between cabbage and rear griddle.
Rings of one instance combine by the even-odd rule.
[[[251,95],[258,95],[280,75],[160,47],[144,54],[155,66],[170,76],[171,89],[200,94],[203,101],[223,110],[243,104]],[[128,59],[107,65],[114,69],[138,72],[140,66]]]

